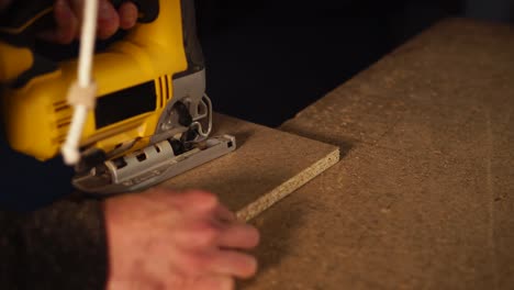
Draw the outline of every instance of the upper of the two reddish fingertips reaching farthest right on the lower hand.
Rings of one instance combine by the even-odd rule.
[[[232,225],[219,235],[217,245],[222,248],[252,249],[259,244],[259,232],[247,224]]]

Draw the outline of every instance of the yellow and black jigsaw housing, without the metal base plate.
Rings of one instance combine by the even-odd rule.
[[[47,25],[52,14],[53,1],[36,2],[38,8],[26,13],[32,18],[18,18],[24,22],[7,18],[0,22],[0,81],[8,83],[2,115],[10,146],[47,160],[59,154],[71,122],[66,96],[77,77],[77,59],[52,62],[25,42],[23,35],[36,23]],[[145,147],[175,97],[174,79],[203,69],[193,1],[135,3],[142,11],[137,25],[94,56],[99,91],[83,129],[82,148],[109,153],[126,143],[133,144],[131,150]]]

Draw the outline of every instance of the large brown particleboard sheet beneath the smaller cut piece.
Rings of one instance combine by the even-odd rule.
[[[514,289],[514,30],[447,20],[281,129],[342,160],[255,220],[244,290]]]

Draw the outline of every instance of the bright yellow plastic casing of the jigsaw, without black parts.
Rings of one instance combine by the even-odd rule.
[[[90,112],[82,147],[109,153],[133,141],[131,150],[148,145],[166,103],[172,99],[171,76],[187,69],[180,0],[160,0],[159,5],[154,22],[137,24],[122,41],[96,54],[93,64],[97,98],[154,81],[156,110],[101,129],[97,129],[94,112]],[[36,77],[23,88],[4,91],[3,116],[13,149],[40,160],[59,154],[72,116],[67,91],[76,78],[75,59],[60,63],[57,71]],[[124,103],[119,105],[123,108]]]

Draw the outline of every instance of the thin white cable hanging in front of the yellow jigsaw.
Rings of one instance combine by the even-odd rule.
[[[80,52],[78,64],[78,87],[89,89],[93,86],[92,65],[94,43],[97,38],[98,0],[86,0],[83,8],[83,23],[80,36]],[[96,96],[89,96],[96,98]],[[62,153],[67,165],[76,165],[80,160],[79,143],[88,118],[88,107],[76,104],[74,118]]]

